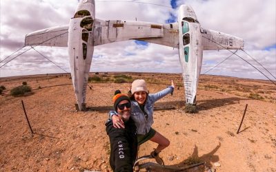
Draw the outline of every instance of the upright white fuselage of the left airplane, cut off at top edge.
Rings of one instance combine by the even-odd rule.
[[[72,83],[75,88],[77,107],[80,111],[86,109],[86,86],[94,51],[92,36],[95,21],[94,9],[95,1],[80,1],[75,16],[70,19],[68,30]]]

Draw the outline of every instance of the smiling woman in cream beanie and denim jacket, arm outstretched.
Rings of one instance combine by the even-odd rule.
[[[173,92],[175,85],[172,81],[172,85],[166,89],[161,90],[155,94],[149,94],[148,88],[146,87],[146,81],[143,79],[134,80],[131,85],[131,118],[135,121],[137,127],[137,140],[138,144],[150,140],[158,144],[157,148],[150,153],[152,158],[155,158],[157,163],[163,164],[159,153],[161,150],[168,147],[170,141],[161,135],[161,133],[152,129],[153,124],[153,105],[154,103],[163,98],[167,94]],[[124,128],[124,122],[120,120],[114,111],[110,111],[113,126],[116,128]]]

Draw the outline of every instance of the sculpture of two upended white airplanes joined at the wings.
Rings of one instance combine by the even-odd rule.
[[[179,49],[186,104],[195,105],[203,50],[243,50],[236,36],[201,28],[188,5],[179,7],[178,22],[110,21],[95,18],[95,1],[81,0],[69,25],[26,35],[25,45],[68,47],[72,84],[80,111],[86,109],[86,87],[94,47],[118,41],[139,40]]]

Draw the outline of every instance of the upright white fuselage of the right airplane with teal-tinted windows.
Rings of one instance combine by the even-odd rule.
[[[195,105],[203,52],[200,24],[193,8],[180,6],[178,25],[179,61],[185,85],[185,100],[186,103]]]

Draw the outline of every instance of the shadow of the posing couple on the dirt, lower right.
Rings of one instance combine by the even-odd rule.
[[[194,151],[192,153],[192,155],[190,155],[190,157],[188,157],[186,160],[183,160],[182,162],[179,162],[178,164],[172,164],[169,165],[171,167],[184,167],[190,164],[195,164],[198,162],[206,162],[205,166],[208,167],[212,167],[211,162],[218,162],[219,161],[219,156],[215,155],[215,153],[217,152],[217,150],[221,147],[221,143],[219,142],[219,144],[215,147],[215,149],[213,149],[212,151],[210,151],[209,153],[206,153],[204,155],[201,155],[199,157],[198,154],[198,147],[197,145],[195,145]]]

